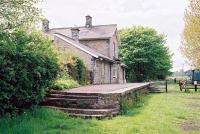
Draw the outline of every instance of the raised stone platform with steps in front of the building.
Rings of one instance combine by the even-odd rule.
[[[124,102],[134,103],[141,95],[148,93],[150,86],[151,83],[130,83],[52,90],[42,105],[62,110],[71,116],[102,119],[119,114]]]

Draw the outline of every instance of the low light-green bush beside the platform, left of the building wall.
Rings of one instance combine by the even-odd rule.
[[[52,86],[50,86],[50,88],[54,90],[64,90],[64,89],[76,88],[79,86],[80,85],[78,84],[77,81],[70,79],[69,80],[58,79],[52,84]]]

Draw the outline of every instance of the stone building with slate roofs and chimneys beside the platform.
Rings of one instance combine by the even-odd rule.
[[[92,84],[126,83],[126,65],[118,59],[116,24],[92,25],[88,15],[85,26],[80,27],[50,29],[49,21],[44,20],[43,32],[53,38],[60,51],[73,52],[84,61]]]

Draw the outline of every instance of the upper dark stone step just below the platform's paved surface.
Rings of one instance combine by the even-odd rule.
[[[67,98],[67,99],[98,99],[98,96],[80,96],[80,95],[63,95],[63,94],[49,94],[48,98]]]

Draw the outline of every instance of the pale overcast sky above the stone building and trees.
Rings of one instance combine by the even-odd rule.
[[[94,25],[155,28],[167,35],[166,46],[173,53],[175,71],[189,69],[179,50],[187,4],[187,0],[46,0],[40,7],[50,28],[85,25],[86,15],[93,17]]]

